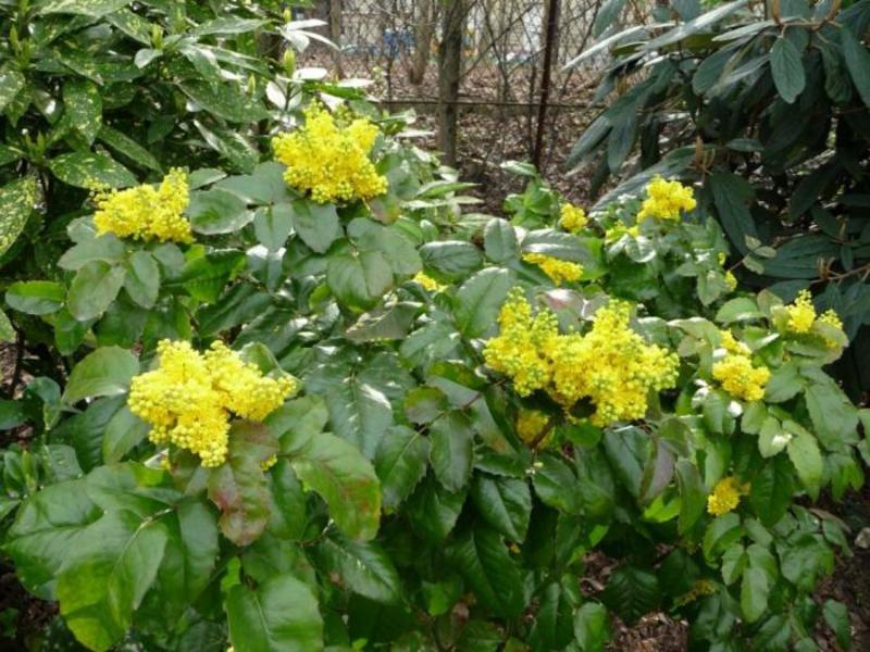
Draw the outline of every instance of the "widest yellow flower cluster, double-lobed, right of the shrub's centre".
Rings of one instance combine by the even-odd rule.
[[[532,315],[522,290],[514,288],[484,359],[511,377],[520,396],[545,390],[567,409],[588,399],[595,405],[595,425],[641,418],[649,391],[676,383],[679,360],[647,344],[631,330],[629,318],[627,304],[611,302],[596,313],[587,334],[560,335],[556,315],[548,310]]]

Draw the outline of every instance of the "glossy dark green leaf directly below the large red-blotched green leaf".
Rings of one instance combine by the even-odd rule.
[[[355,593],[384,604],[401,600],[399,573],[376,542],[327,537],[318,546],[316,555],[320,566]]]

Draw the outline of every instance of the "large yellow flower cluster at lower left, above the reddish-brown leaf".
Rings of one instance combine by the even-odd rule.
[[[290,376],[263,376],[220,341],[199,353],[162,340],[157,351],[158,368],[133,379],[127,404],[151,425],[151,441],[188,449],[203,466],[226,461],[231,413],[261,421],[298,388]]]

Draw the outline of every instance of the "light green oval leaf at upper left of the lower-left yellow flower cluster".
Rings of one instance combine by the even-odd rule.
[[[139,373],[139,360],[120,347],[102,347],[73,368],[63,401],[70,405],[85,398],[113,397],[127,391]]]

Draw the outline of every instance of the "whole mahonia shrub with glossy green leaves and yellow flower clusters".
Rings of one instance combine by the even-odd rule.
[[[464,214],[405,126],[318,105],[250,174],[97,192],[8,289],[70,364],[7,403],[0,475],[50,640],[589,652],[666,612],[696,650],[848,645],[812,597],[848,546],[811,505],[870,456],[837,316],[742,289],[691,187],[586,214],[512,163]]]

